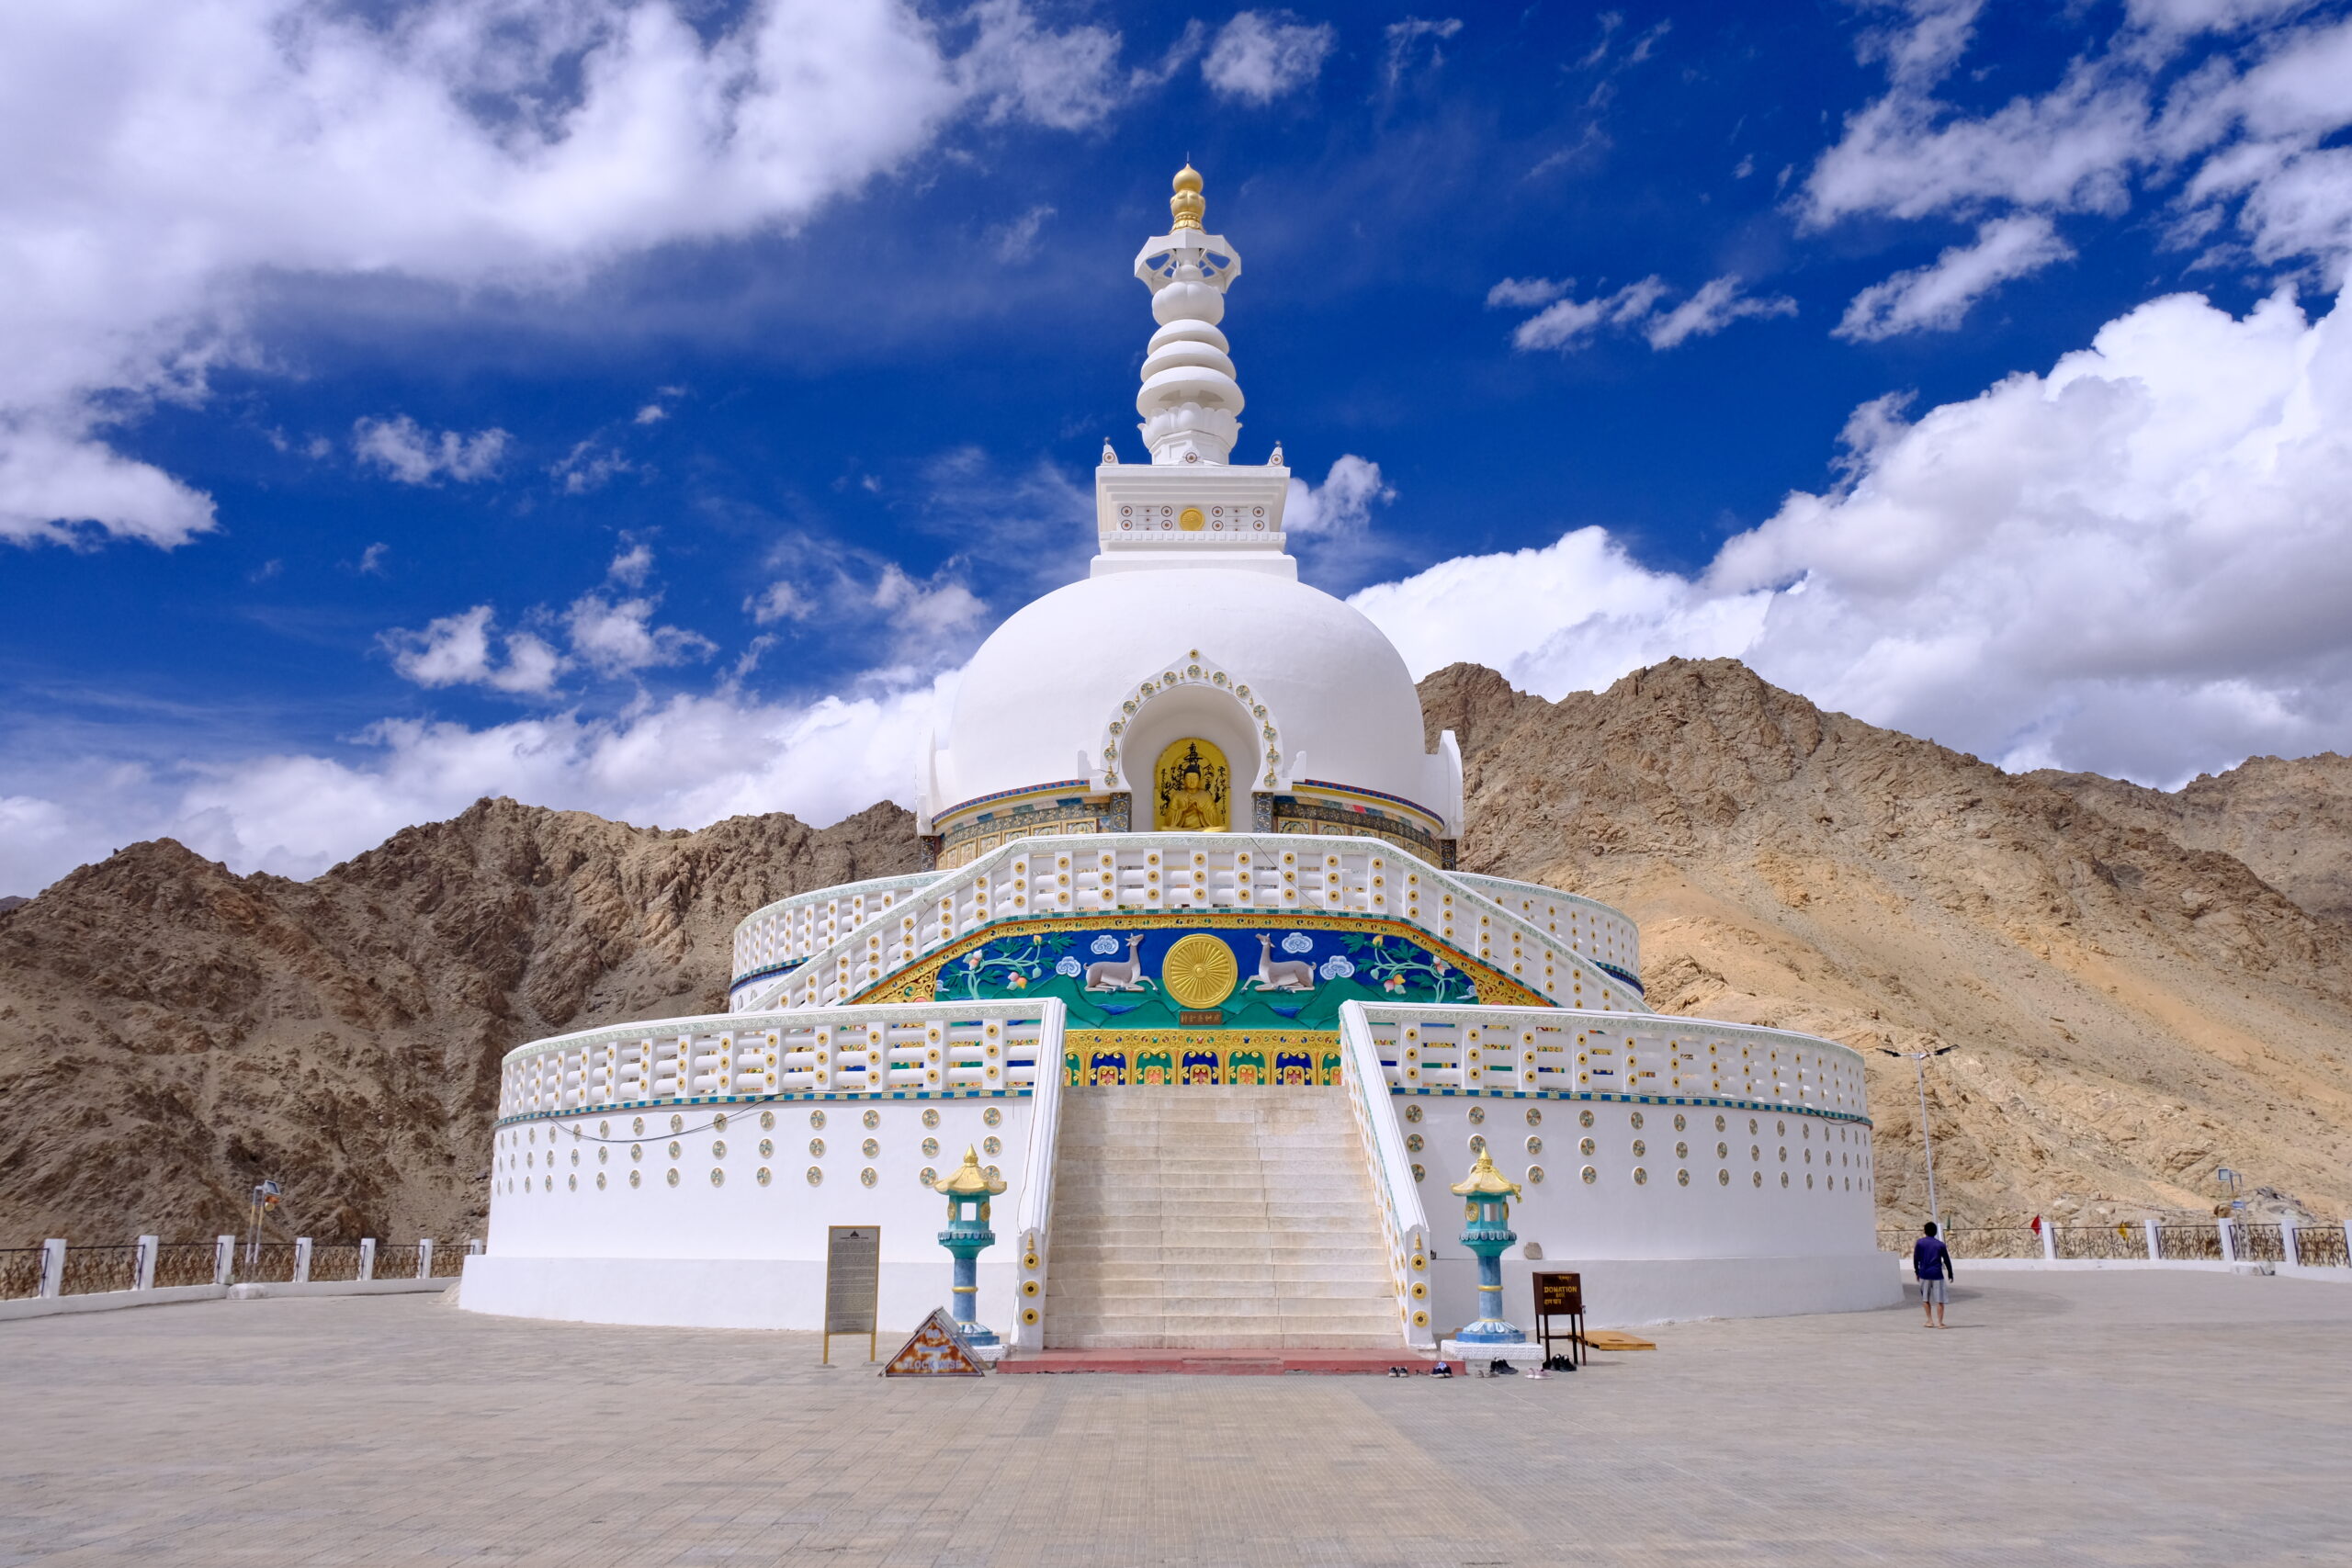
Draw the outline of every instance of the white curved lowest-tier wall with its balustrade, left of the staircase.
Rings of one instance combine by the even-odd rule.
[[[981,1316],[1014,1338],[1035,1084],[1040,1067],[1061,1067],[1061,1025],[1054,999],[666,1020],[666,1060],[684,1060],[687,1086],[706,1093],[663,1095],[680,1081],[666,1072],[654,1098],[621,1098],[637,1079],[593,1065],[607,1046],[656,1039],[656,1025],[524,1046],[508,1058],[494,1135],[489,1251],[466,1260],[459,1305],[821,1328],[828,1227],[861,1225],[882,1232],[882,1328],[913,1331],[948,1302],[953,1274],[938,1246],[946,1199],[929,1175],[971,1147],[1007,1182],[990,1215],[997,1246],[981,1255]],[[776,1088],[769,1032],[781,1037]],[[710,1060],[724,1051],[708,1046],[720,1037],[727,1048],[757,1041],[741,1053],[757,1056],[757,1072],[729,1077],[727,1093],[715,1093]]]

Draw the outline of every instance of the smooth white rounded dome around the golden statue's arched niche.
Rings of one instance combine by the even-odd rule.
[[[1204,677],[1190,677],[1192,665]],[[1127,715],[1145,682],[1157,689]],[[1249,724],[1237,689],[1249,689],[1251,710],[1265,708],[1263,724]],[[1105,762],[1115,722],[1127,743],[1112,738]],[[943,811],[1080,778],[1131,788],[1162,729],[1164,741],[1202,731],[1223,745],[1235,795],[1244,778],[1261,792],[1315,778],[1456,816],[1451,764],[1425,750],[1421,696],[1381,628],[1319,588],[1216,567],[1094,576],[1000,625],[941,726],[929,804]],[[1263,729],[1277,733],[1272,769]]]

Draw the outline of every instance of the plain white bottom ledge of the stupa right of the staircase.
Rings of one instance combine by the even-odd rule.
[[[1430,1265],[1432,1319],[1454,1331],[1477,1319],[1477,1258],[1444,1248]],[[1585,1321],[1639,1328],[1708,1316],[1875,1312],[1905,1300],[1893,1253],[1832,1258],[1503,1258],[1503,1312],[1536,1333],[1536,1272],[1573,1272],[1585,1284]]]

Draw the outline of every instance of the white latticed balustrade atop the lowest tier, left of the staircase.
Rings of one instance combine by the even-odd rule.
[[[1061,1070],[1061,1001],[908,1001],[710,1013],[506,1053],[499,1119],[666,1100],[1014,1091]]]

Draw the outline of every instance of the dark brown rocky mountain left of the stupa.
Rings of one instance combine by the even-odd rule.
[[[0,914],[0,1239],[480,1227],[499,1058],[724,1006],[727,933],[788,893],[915,870],[913,820],[701,832],[480,802],[315,882],[169,839]]]

